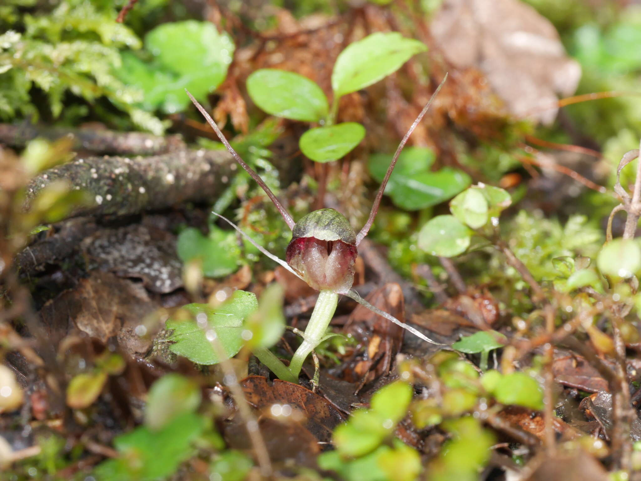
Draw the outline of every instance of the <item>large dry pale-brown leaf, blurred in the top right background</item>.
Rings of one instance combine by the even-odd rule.
[[[519,0],[445,0],[430,29],[445,58],[483,72],[517,117],[572,95],[581,78],[551,22]],[[556,108],[533,115],[554,117]]]

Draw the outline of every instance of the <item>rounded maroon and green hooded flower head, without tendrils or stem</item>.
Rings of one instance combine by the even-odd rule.
[[[354,282],[356,232],[334,209],[313,211],[294,225],[286,259],[313,289],[346,293]]]

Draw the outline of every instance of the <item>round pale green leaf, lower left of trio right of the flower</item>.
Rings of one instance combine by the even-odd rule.
[[[472,231],[452,215],[438,215],[419,231],[419,248],[432,256],[454,257],[470,245]]]

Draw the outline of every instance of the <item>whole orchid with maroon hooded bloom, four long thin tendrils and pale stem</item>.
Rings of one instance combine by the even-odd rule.
[[[337,62],[337,65],[338,63],[340,63],[340,58],[339,62]],[[336,71],[337,70],[335,69],[335,72]],[[362,79],[362,81],[360,81],[360,83],[358,84],[354,83],[353,80],[349,80],[351,79],[351,77],[349,76],[338,76],[338,78],[345,78],[345,80],[341,80],[340,82],[345,81],[347,82],[348,86],[359,85],[360,87],[358,88],[362,88],[363,86],[370,85],[370,83],[378,80],[386,72],[387,70],[383,71],[381,69],[372,69],[370,79]],[[356,75],[357,73],[358,71],[353,72],[354,75]],[[362,78],[362,76],[360,75],[358,77]],[[351,90],[349,90],[349,88],[351,87],[344,86],[340,82],[337,82],[335,85],[335,91],[338,92],[338,94],[351,92]],[[387,169],[387,173],[385,174],[385,178],[383,179],[383,182],[381,183],[379,191],[376,195],[376,199],[374,200],[369,218],[367,219],[365,226],[361,229],[360,232],[358,232],[358,234],[356,234],[354,229],[351,227],[347,218],[338,213],[338,211],[336,211],[335,209],[320,209],[317,211],[313,211],[312,213],[303,216],[303,218],[301,218],[298,222],[294,222],[294,219],[292,218],[290,213],[276,198],[276,195],[274,195],[267,184],[265,184],[260,176],[256,174],[256,172],[254,172],[254,170],[249,167],[249,165],[247,165],[247,163],[245,163],[242,158],[240,158],[240,156],[231,147],[231,145],[229,145],[229,142],[226,140],[224,135],[222,135],[221,130],[215,124],[212,117],[207,113],[207,111],[204,110],[203,106],[201,106],[201,104],[199,104],[196,99],[194,99],[194,97],[189,92],[187,92],[190,99],[192,99],[192,102],[194,102],[194,105],[196,105],[197,109],[201,112],[201,114],[203,114],[204,118],[206,118],[212,129],[219,136],[221,142],[224,143],[225,147],[227,147],[228,151],[231,152],[240,166],[243,167],[247,171],[247,173],[251,175],[254,181],[256,181],[256,183],[258,183],[263,188],[269,199],[272,200],[274,206],[276,206],[279,213],[281,213],[281,215],[283,216],[283,219],[285,220],[288,227],[292,229],[292,241],[290,241],[287,247],[287,261],[283,261],[278,257],[272,255],[270,252],[267,252],[267,250],[263,249],[263,247],[253,241],[249,236],[247,236],[247,234],[241,231],[227,218],[224,218],[223,216],[218,214],[215,215],[220,216],[235,229],[237,229],[237,231],[240,232],[240,234],[242,234],[248,241],[253,243],[256,249],[260,250],[260,252],[270,257],[280,265],[284,266],[288,271],[294,273],[294,275],[307,282],[307,284],[309,284],[312,288],[320,291],[319,298],[312,313],[312,317],[310,318],[310,322],[308,323],[307,328],[303,334],[303,343],[301,343],[299,348],[294,353],[294,356],[292,357],[292,360],[290,361],[290,365],[288,367],[281,363],[281,361],[279,361],[279,359],[277,359],[273,355],[271,355],[271,357],[267,359],[267,355],[265,355],[265,353],[269,353],[269,350],[267,350],[265,346],[261,346],[263,351],[258,351],[258,354],[260,354],[257,354],[258,358],[281,379],[297,382],[299,373],[307,356],[316,348],[316,346],[318,346],[322,341],[324,341],[324,339],[326,339],[325,332],[336,310],[338,295],[346,295],[347,297],[356,300],[356,302],[363,304],[363,306],[368,307],[375,313],[387,318],[388,320],[403,327],[404,329],[410,330],[410,332],[423,339],[424,341],[438,344],[421,334],[419,331],[413,329],[412,327],[401,323],[394,316],[391,316],[390,314],[381,311],[381,309],[372,306],[371,304],[369,304],[369,302],[363,300],[363,298],[361,298],[360,295],[358,295],[358,293],[351,287],[354,282],[354,261],[356,260],[358,245],[361,243],[363,238],[367,236],[367,232],[369,232],[370,227],[372,227],[372,224],[374,223],[374,218],[376,217],[376,213],[378,212],[378,208],[383,197],[383,192],[385,191],[385,186],[387,186],[387,182],[390,178],[390,175],[392,174],[392,170],[394,169],[396,161],[399,158],[399,154],[403,150],[403,147],[407,142],[409,136],[412,134],[412,131],[428,111],[431,102],[435,98],[435,95],[438,94],[438,91],[440,90],[444,82],[445,79],[438,86],[431,99],[429,99],[428,104],[426,104],[426,106],[420,112],[419,117],[416,118],[416,120],[412,124],[412,127],[410,127],[403,140],[399,144],[399,147],[397,148],[394,157],[392,158],[392,161]],[[337,86],[340,88],[337,88]],[[237,293],[237,295],[240,294]],[[208,325],[206,318],[203,318],[203,321],[204,326]],[[217,338],[215,329],[212,330],[211,336],[212,339]],[[212,339],[210,339],[210,341]],[[233,355],[240,349],[240,346],[238,346],[238,350],[235,350],[235,352],[232,353],[232,350],[229,350],[229,346],[224,346],[225,340],[222,339],[222,337],[219,339],[221,341],[221,345],[223,345],[222,347],[226,348],[227,355]],[[256,350],[254,350],[254,354],[256,354]]]

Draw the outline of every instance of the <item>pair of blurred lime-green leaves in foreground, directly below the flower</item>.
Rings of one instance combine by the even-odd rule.
[[[334,430],[333,441],[343,456],[358,457],[376,449],[394,432],[412,400],[412,387],[393,382],[372,396],[371,409],[354,411],[347,423]]]

